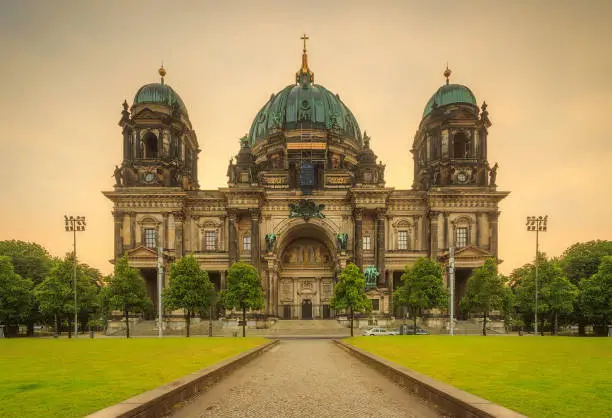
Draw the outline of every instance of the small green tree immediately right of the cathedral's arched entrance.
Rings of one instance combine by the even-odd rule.
[[[353,319],[355,312],[370,312],[372,301],[365,293],[365,276],[359,267],[349,263],[338,277],[334,287],[334,296],[331,300],[332,308],[336,310],[348,309],[351,318],[351,337],[353,333]]]

